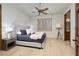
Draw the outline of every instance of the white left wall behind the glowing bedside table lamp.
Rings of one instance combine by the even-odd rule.
[[[2,38],[6,38],[5,27],[13,27],[15,34],[16,28],[20,25],[28,25],[28,21],[29,16],[26,13],[11,4],[2,4]]]

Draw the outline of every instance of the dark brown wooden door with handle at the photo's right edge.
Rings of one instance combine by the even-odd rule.
[[[76,39],[75,41],[75,55],[79,56],[79,4],[76,4]]]

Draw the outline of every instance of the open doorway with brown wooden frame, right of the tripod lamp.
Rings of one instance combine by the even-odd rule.
[[[64,41],[70,44],[70,24],[71,24],[71,10],[65,13],[64,15]]]

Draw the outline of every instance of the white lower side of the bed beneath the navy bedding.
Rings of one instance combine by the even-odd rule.
[[[45,46],[45,42],[46,42],[46,39],[43,43],[16,41],[16,45],[29,46],[29,47],[35,47],[35,48],[43,49],[44,46]]]

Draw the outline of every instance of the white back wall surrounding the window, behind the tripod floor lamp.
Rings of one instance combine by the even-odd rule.
[[[43,15],[43,16],[40,16],[40,17],[52,18],[52,31],[46,32],[46,34],[47,34],[47,38],[57,38],[56,24],[60,23],[60,24],[62,24],[62,27],[63,27],[63,24],[64,24],[63,23],[63,21],[64,21],[63,20],[63,14],[57,13],[57,14],[52,14],[52,15],[47,15],[47,16]],[[38,31],[37,30],[37,19],[38,19],[37,16],[30,17],[31,24],[34,26],[35,31]],[[64,37],[63,33],[64,33],[64,30],[62,28],[62,31],[61,31],[62,38]]]

